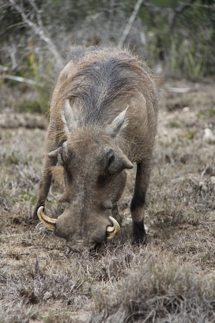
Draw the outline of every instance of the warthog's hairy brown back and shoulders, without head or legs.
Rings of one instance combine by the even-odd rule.
[[[157,123],[157,87],[149,68],[115,47],[73,47],[51,102],[50,123],[64,136],[61,109],[69,99],[79,126],[110,124],[127,105],[121,147],[134,162],[153,146]],[[122,138],[121,138],[122,139]]]

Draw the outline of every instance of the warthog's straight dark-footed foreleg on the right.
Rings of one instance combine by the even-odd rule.
[[[137,163],[134,194],[130,207],[133,222],[132,242],[143,245],[147,243],[143,215],[145,211],[146,192],[149,185],[151,167],[152,157]]]

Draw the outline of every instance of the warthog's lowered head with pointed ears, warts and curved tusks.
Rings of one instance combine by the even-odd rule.
[[[128,107],[127,107],[128,108]],[[119,232],[119,224],[111,217],[113,203],[122,196],[131,161],[117,147],[117,135],[125,124],[127,108],[110,125],[102,129],[78,127],[69,100],[62,120],[68,140],[48,156],[64,168],[65,190],[59,201],[67,202],[58,219],[38,216],[67,246],[78,251],[92,249]]]

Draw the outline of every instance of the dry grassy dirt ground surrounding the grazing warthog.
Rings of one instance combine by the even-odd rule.
[[[1,87],[2,95],[4,86]],[[142,275],[144,281],[144,277],[152,272],[153,275],[160,272],[165,276],[162,268],[169,273],[180,272],[183,274],[180,279],[192,273],[198,286],[207,279],[208,289],[204,287],[207,290],[214,286],[214,82],[204,80],[197,84],[169,78],[161,88],[154,165],[145,211],[148,236],[145,248],[129,243],[132,224],[129,206],[135,168],[128,172],[127,186],[118,203],[121,233],[96,252],[65,255],[67,248],[63,239],[55,237],[43,224],[31,224],[29,217],[36,201],[44,159],[47,117],[18,113],[5,106],[2,108],[0,322],[215,321],[214,302],[210,303],[208,299],[210,307],[199,307],[194,311],[197,314],[189,319],[186,316],[189,312],[187,305],[181,305],[180,312],[178,305],[169,308],[164,302],[162,308],[165,310],[162,312],[153,298],[150,308],[140,309],[142,303],[139,301],[137,309],[133,309],[130,305],[126,307],[126,300],[122,297],[125,286],[130,293],[128,280],[134,282],[132,286],[137,285],[134,273],[139,273],[139,277]],[[187,93],[176,93],[180,91],[178,89],[187,89]],[[11,96],[15,102],[15,94]],[[50,215],[60,214],[59,194],[59,188],[53,182],[46,208]],[[153,268],[158,268],[156,273]],[[165,287],[165,293],[162,292],[158,285],[162,285],[164,276],[161,280],[155,279],[156,288],[148,287],[142,295],[146,293],[144,295],[149,299],[153,290],[157,297],[169,293],[168,299],[172,299],[174,293],[187,293],[176,288],[176,278],[168,283],[172,284],[171,292],[169,287]],[[138,298],[136,287],[132,288],[134,298],[135,295]],[[206,293],[204,288],[201,290]],[[191,299],[189,304],[193,304],[194,294],[189,295],[186,299]],[[207,298],[205,295],[202,296],[204,299]],[[174,297],[179,302],[178,296]],[[185,304],[185,301],[180,304]],[[120,308],[123,308],[122,312],[119,312]],[[177,320],[182,311],[184,319]]]

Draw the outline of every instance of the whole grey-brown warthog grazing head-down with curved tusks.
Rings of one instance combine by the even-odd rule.
[[[51,100],[43,175],[32,218],[66,239],[72,251],[92,249],[119,232],[112,215],[137,163],[131,202],[132,241],[146,244],[143,224],[157,128],[157,87],[147,66],[115,47],[74,47]],[[64,173],[63,214],[43,213],[52,170]]]

